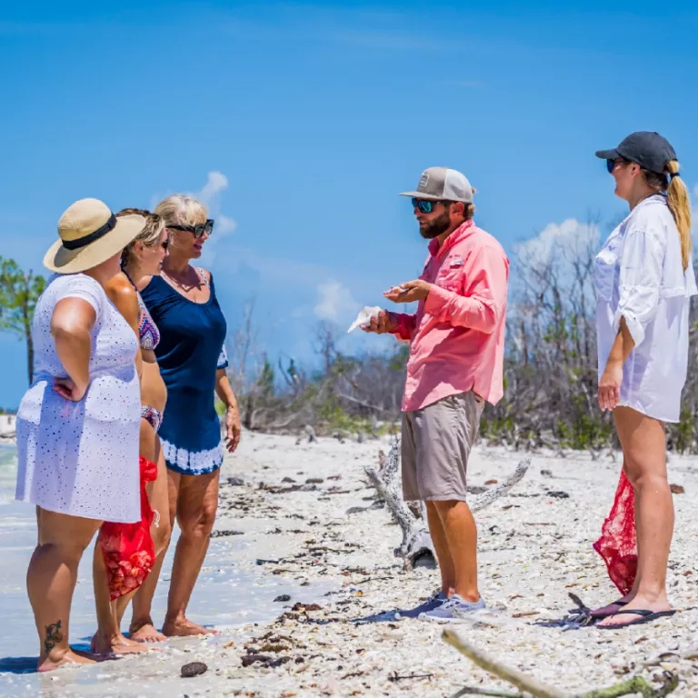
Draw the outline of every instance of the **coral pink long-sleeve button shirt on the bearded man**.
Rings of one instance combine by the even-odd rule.
[[[416,314],[394,314],[410,342],[403,411],[473,390],[490,404],[504,394],[504,315],[509,260],[502,245],[466,221],[429,244],[420,276],[432,284]]]

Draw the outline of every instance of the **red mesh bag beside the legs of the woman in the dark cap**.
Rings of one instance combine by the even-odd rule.
[[[611,513],[603,522],[601,538],[593,549],[606,563],[608,576],[623,594],[629,593],[637,573],[637,531],[635,529],[635,493],[621,471]]]

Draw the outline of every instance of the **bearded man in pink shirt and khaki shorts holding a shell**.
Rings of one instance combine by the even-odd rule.
[[[424,171],[412,197],[429,254],[422,275],[393,286],[394,303],[415,314],[381,311],[366,332],[410,343],[402,426],[403,494],[423,500],[441,570],[441,592],[401,612],[440,623],[484,608],[477,587],[477,529],[466,504],[466,470],[484,403],[504,392],[504,314],[509,260],[474,224],[473,188],[460,172]]]

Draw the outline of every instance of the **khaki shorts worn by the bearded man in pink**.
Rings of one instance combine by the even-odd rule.
[[[408,502],[465,501],[465,474],[484,401],[473,391],[403,413],[403,496]]]

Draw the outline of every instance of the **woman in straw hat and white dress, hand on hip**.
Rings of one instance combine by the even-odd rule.
[[[106,282],[145,225],[96,199],[71,205],[44,258],[51,277],[35,308],[34,383],[17,413],[16,498],[36,505],[38,544],[26,586],[40,672],[91,663],[68,645],[77,567],[103,521],[141,519],[138,344]]]

